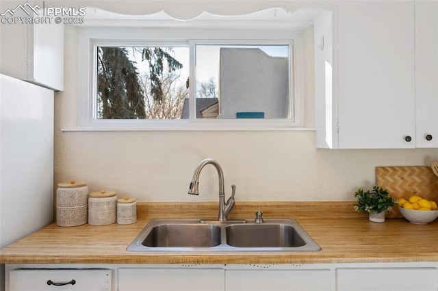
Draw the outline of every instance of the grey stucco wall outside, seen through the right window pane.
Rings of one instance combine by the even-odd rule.
[[[287,118],[288,57],[271,57],[261,48],[220,48],[219,70],[220,117],[263,112],[265,118]]]

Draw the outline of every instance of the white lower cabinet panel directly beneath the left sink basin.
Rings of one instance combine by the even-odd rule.
[[[215,268],[120,268],[119,291],[224,291],[224,270]]]

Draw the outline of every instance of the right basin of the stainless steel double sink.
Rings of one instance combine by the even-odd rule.
[[[305,240],[294,227],[283,223],[235,224],[226,227],[227,244],[233,247],[302,247]]]

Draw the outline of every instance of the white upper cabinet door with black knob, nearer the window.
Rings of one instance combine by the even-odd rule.
[[[339,148],[414,148],[413,1],[339,1],[337,14]]]

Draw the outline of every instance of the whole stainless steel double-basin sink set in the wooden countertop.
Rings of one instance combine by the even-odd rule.
[[[153,219],[127,247],[142,252],[320,251],[294,219]]]

